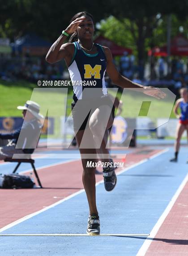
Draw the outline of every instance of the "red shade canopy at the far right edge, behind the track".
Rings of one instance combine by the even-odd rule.
[[[151,56],[167,56],[167,45],[154,47],[148,51]],[[171,54],[175,56],[188,56],[188,39],[182,35],[175,36],[171,41]]]

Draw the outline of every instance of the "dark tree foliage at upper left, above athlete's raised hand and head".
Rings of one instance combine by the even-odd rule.
[[[100,8],[98,8],[100,6]],[[111,12],[107,0],[0,0],[0,36],[14,40],[34,32],[54,41],[68,26],[72,16],[81,11],[93,14],[96,22]]]

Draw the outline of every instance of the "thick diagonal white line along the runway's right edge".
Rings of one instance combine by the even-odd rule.
[[[154,228],[151,230],[150,237],[146,238],[145,242],[141,246],[140,250],[137,252],[136,256],[145,256],[145,253],[147,252],[148,248],[150,247],[150,244],[151,244],[152,240],[156,236],[156,234],[157,234],[158,230],[160,229],[162,223],[164,222],[164,220],[166,219],[167,215],[171,211],[171,208],[174,206],[175,201],[179,197],[179,194],[182,192],[182,190],[184,189],[184,186],[185,186],[185,184],[187,182],[188,182],[188,175],[186,175],[186,177],[184,178],[184,180],[180,184],[180,186],[177,189],[176,193],[174,194],[173,198],[169,202],[167,208],[162,213],[161,217],[158,219],[158,222],[154,225]]]

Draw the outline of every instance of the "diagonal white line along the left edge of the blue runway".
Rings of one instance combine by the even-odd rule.
[[[163,152],[163,153],[164,153],[164,152]],[[142,164],[142,163],[144,163],[144,162],[147,162],[148,160],[149,160],[149,159],[144,159],[144,160],[141,160],[140,162],[137,162],[136,164],[133,164],[132,166],[128,166],[128,167],[125,168],[124,170],[117,172],[117,175],[120,175],[121,173],[123,173],[123,172],[125,172],[125,171],[128,171],[129,169],[131,169],[131,168],[133,168],[133,167],[136,167],[136,166],[138,166],[138,165],[140,165],[140,164]],[[77,161],[77,160],[75,160],[75,161]],[[98,181],[98,182],[96,183],[96,186],[98,186],[98,184],[101,184],[101,183],[104,183],[104,180]],[[12,222],[12,223],[10,223],[10,224],[4,226],[3,228],[1,228],[1,229],[0,229],[0,233],[3,232],[4,230],[7,230],[7,229],[12,228],[13,226],[15,226],[15,225],[17,225],[17,224],[19,224],[19,223],[21,223],[21,222],[23,222],[23,221],[25,221],[25,220],[28,220],[28,219],[32,218],[33,216],[38,215],[39,213],[41,213],[41,212],[43,212],[43,211],[47,211],[48,209],[50,209],[50,208],[52,208],[52,207],[55,207],[56,205],[59,205],[60,203],[65,202],[65,201],[67,201],[68,199],[71,199],[71,198],[77,196],[78,194],[80,194],[80,193],[82,193],[82,192],[85,192],[85,190],[84,190],[84,189],[81,189],[81,190],[77,191],[76,193],[73,193],[72,195],[68,196],[67,198],[64,198],[64,199],[62,199],[62,200],[60,200],[60,201],[57,201],[56,203],[54,203],[54,204],[52,204],[52,205],[50,205],[50,206],[48,206],[48,207],[46,207],[46,208],[43,208],[42,210],[36,211],[36,212],[31,213],[31,214],[29,214],[29,215],[27,215],[27,216],[25,216],[25,217],[23,217],[23,218],[21,218],[21,219],[19,219],[19,220],[16,220],[16,221],[14,221],[14,222]]]

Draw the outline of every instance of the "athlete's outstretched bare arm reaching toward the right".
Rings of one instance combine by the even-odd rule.
[[[104,52],[107,58],[107,74],[110,76],[111,81],[115,84],[115,85],[119,85],[122,88],[129,88],[129,89],[143,89],[143,93],[153,96],[157,99],[163,99],[165,98],[166,94],[163,93],[161,90],[159,90],[158,88],[152,87],[152,86],[143,86],[140,84],[137,84],[131,80],[129,80],[128,78],[122,76],[116,69],[114,63],[113,63],[113,59],[112,59],[112,55],[111,55],[111,51],[109,48],[104,47]]]

